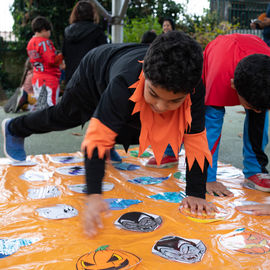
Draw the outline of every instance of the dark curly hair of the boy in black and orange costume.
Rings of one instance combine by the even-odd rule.
[[[174,93],[190,93],[202,74],[202,48],[184,32],[159,35],[144,57],[145,78]]]

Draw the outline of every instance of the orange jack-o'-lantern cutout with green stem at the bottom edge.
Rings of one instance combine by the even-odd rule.
[[[127,270],[134,269],[141,258],[123,251],[108,249],[109,246],[102,246],[93,252],[81,256],[76,264],[77,270]]]

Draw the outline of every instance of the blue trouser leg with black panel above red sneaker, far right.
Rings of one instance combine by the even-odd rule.
[[[268,143],[268,111],[255,113],[246,110],[243,136],[244,175],[267,173],[268,158],[264,149]]]

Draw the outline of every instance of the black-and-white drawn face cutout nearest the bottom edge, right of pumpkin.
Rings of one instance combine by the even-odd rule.
[[[206,247],[200,240],[166,236],[155,244],[152,251],[168,260],[196,263],[202,259]]]

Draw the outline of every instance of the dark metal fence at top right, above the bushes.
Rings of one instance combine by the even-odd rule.
[[[266,12],[269,1],[251,0],[211,0],[210,9],[218,15],[219,21],[239,24],[239,28],[250,28],[250,20]]]

